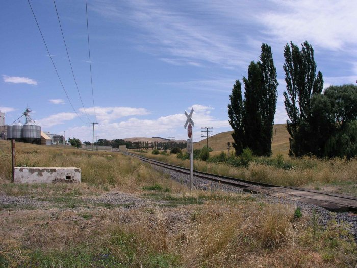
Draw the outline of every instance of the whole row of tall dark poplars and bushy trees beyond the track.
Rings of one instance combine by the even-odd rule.
[[[316,74],[314,50],[305,41],[284,47],[289,155],[344,157],[357,155],[357,87],[330,86],[323,91],[323,76]],[[248,77],[233,85],[228,117],[234,130],[236,155],[249,148],[254,155],[270,156],[276,110],[276,68],[271,47],[262,44],[260,61],[248,66]]]

